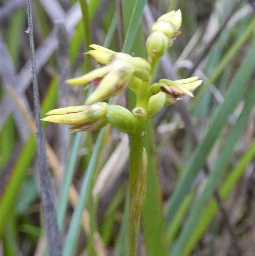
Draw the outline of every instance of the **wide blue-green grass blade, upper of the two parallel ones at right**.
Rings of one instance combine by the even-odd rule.
[[[220,104],[215,110],[211,125],[208,128],[208,132],[204,136],[199,147],[196,149],[193,159],[188,163],[186,173],[182,176],[179,185],[171,197],[171,201],[168,209],[166,210],[165,216],[167,226],[169,226],[173,220],[179,209],[181,201],[190,189],[190,186],[200,168],[205,163],[212,145],[215,143],[215,140],[217,139],[222,127],[227,122],[228,115],[235,109],[241,95],[244,93],[254,71],[254,60],[255,49],[254,47],[251,47],[251,50],[248,52],[242,66],[238,70],[237,75],[230,85],[224,102],[222,102],[222,104]]]

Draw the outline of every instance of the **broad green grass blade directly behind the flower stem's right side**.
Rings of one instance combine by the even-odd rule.
[[[142,228],[147,256],[167,256],[162,191],[159,179],[155,134],[152,121],[146,127],[145,148],[148,154],[147,191],[142,208]]]

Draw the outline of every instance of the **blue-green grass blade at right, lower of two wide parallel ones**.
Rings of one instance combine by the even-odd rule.
[[[231,130],[226,143],[222,147],[222,150],[216,161],[215,167],[208,176],[207,184],[203,192],[201,193],[200,197],[196,201],[195,205],[193,205],[189,218],[186,221],[184,228],[182,229],[173,250],[171,251],[171,255],[182,255],[182,252],[184,251],[186,246],[186,242],[190,239],[190,237],[192,237],[192,233],[196,227],[196,224],[200,220],[200,216],[202,215],[209,199],[212,197],[213,192],[217,189],[217,184],[220,182],[222,173],[224,172],[228,164],[234,146],[237,143],[239,136],[241,135],[243,129],[245,128],[249,120],[251,109],[254,105],[254,95],[255,87],[247,91],[244,109],[241,115],[239,116],[237,123]]]

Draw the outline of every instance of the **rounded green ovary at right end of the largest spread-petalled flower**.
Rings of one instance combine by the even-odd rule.
[[[130,59],[130,63],[134,66],[134,75],[143,81],[148,81],[151,77],[151,67],[146,59],[134,57]]]

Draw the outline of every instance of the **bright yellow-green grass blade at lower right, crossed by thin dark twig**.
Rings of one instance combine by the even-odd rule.
[[[230,174],[226,178],[226,181],[223,183],[220,189],[220,196],[222,200],[227,198],[231,190],[239,181],[240,177],[243,175],[245,168],[252,161],[254,157],[255,157],[255,140],[253,141],[253,143],[251,144],[247,152],[239,160],[239,163],[237,164],[237,166],[230,172]],[[201,215],[200,221],[196,225],[196,228],[194,229],[194,232],[190,237],[190,240],[186,244],[186,248],[182,253],[182,256],[190,255],[195,245],[197,244],[197,242],[199,241],[199,239],[201,238],[205,230],[208,228],[208,226],[210,225],[211,221],[213,220],[213,218],[215,217],[218,211],[219,211],[219,206],[216,200],[214,199],[212,200],[211,203],[209,203],[209,205]]]

